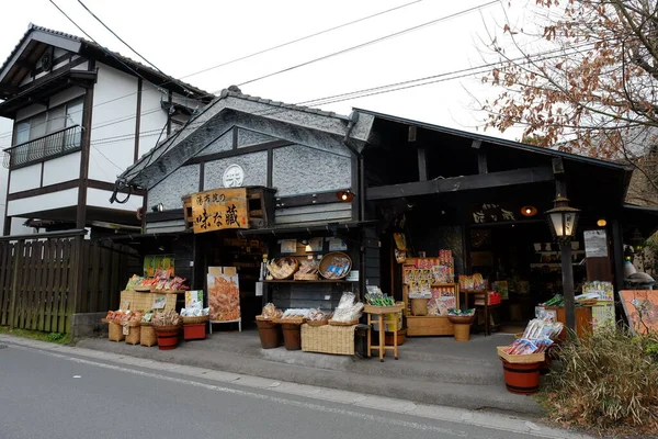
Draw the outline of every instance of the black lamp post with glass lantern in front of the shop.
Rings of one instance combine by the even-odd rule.
[[[576,236],[576,226],[580,211],[569,206],[569,200],[557,195],[555,206],[546,211],[551,233],[559,243],[563,272],[563,294],[565,297],[565,323],[567,328],[576,330],[576,300],[574,299],[574,266],[571,262],[571,238]]]

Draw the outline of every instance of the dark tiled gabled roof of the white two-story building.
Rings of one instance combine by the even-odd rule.
[[[33,37],[37,36],[36,35],[37,33],[41,34],[41,38],[33,38]],[[53,38],[52,38],[52,41],[48,41],[47,37],[53,37]],[[16,66],[16,61],[23,60],[23,58],[25,58],[25,60],[29,60],[29,61],[35,61],[36,59],[38,59],[38,56],[41,56],[37,53],[36,55],[38,55],[38,56],[36,57],[36,59],[34,59],[35,56],[31,57],[31,55],[34,55],[34,54],[32,54],[32,53],[25,54],[24,53],[26,50],[26,48],[29,47],[29,44],[31,43],[32,40],[35,40],[41,43],[41,45],[36,45],[36,47],[33,47],[33,49],[38,49],[41,47],[42,53],[44,50],[44,48],[43,48],[44,45],[48,45],[48,44],[59,45],[61,48],[65,48],[69,52],[77,53],[78,55],[81,55],[84,57],[90,57],[90,58],[101,58],[102,57],[104,64],[111,65],[112,67],[115,67],[120,70],[126,71],[131,75],[135,75],[133,71],[131,71],[131,69],[133,69],[133,70],[137,71],[139,75],[141,75],[145,79],[154,82],[154,85],[161,86],[166,89],[175,91],[183,95],[189,94],[190,98],[203,99],[206,102],[213,98],[213,94],[208,93],[207,91],[198,89],[190,83],[180,81],[178,79],[173,79],[172,77],[164,75],[149,66],[145,66],[144,64],[138,63],[134,59],[131,59],[126,56],[123,56],[116,52],[111,52],[94,42],[91,42],[89,40],[86,40],[86,38],[82,38],[82,37],[79,37],[76,35],[71,35],[71,34],[67,34],[64,32],[54,31],[54,30],[50,30],[47,27],[38,26],[38,25],[32,24],[32,23],[27,26],[27,31],[25,32],[23,37],[19,41],[19,43],[12,49],[11,54],[7,57],[5,61],[0,67],[0,88],[1,88],[1,86],[5,86],[5,89],[10,90],[9,92],[5,91],[4,93],[1,93],[2,90],[0,89],[0,98],[3,98],[3,99],[11,98],[11,95],[12,95],[11,93],[15,92],[14,90],[12,90],[12,87],[8,87],[8,86],[18,87],[15,81],[12,81],[13,83],[9,85],[9,83],[7,83],[8,81],[5,80],[7,74],[9,72],[10,69],[12,69],[12,67],[23,69],[25,72],[29,72],[31,70],[31,67],[29,66],[30,63],[26,63],[27,64],[26,66]],[[111,54],[111,55],[109,56],[107,54]],[[13,77],[18,78],[19,75],[14,74]]]

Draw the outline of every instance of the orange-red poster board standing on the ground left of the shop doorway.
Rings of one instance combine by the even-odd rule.
[[[207,281],[211,320],[240,320],[240,286],[236,268],[208,267]]]

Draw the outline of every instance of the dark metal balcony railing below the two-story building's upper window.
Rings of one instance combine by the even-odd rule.
[[[13,169],[80,148],[82,127],[69,126],[33,140],[4,149],[5,168]]]

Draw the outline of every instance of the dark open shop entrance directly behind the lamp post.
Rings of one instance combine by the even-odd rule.
[[[467,233],[469,272],[480,273],[489,289],[501,294],[490,306],[492,330],[522,331],[535,306],[563,291],[559,248],[544,221],[472,225]],[[574,241],[576,289],[586,279],[582,244]]]

